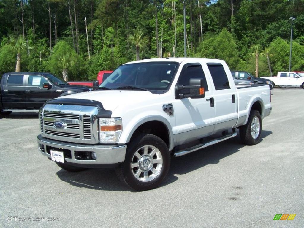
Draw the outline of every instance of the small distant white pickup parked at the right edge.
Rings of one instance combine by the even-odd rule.
[[[278,72],[276,77],[261,77],[271,80],[273,86],[280,88],[285,87],[302,87],[304,89],[304,77],[294,72]]]

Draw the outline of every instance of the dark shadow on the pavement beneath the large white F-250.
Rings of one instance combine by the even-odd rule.
[[[261,140],[271,134],[272,131],[263,130]],[[182,175],[208,164],[218,164],[221,159],[237,153],[242,147],[245,147],[245,145],[242,144],[240,137],[237,136],[185,156],[173,158],[168,176],[160,187],[177,181],[178,177],[175,174]],[[78,173],[71,173],[61,169],[57,172],[57,176],[60,180],[79,188],[135,192],[118,180],[113,169],[88,169]]]

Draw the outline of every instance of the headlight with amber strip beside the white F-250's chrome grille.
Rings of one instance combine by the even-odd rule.
[[[123,131],[121,118],[100,118],[99,119],[99,142],[118,143],[119,136]]]

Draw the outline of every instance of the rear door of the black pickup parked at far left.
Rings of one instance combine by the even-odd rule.
[[[25,109],[24,74],[5,75],[2,85],[3,109]]]

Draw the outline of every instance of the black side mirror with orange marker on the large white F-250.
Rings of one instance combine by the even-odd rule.
[[[202,78],[190,78],[189,85],[181,85],[175,88],[175,98],[204,98],[205,90]]]

